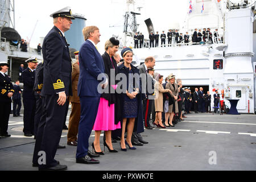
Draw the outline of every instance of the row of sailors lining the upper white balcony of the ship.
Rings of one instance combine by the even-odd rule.
[[[223,37],[218,35],[218,29],[216,28],[215,31],[210,32],[210,28],[204,28],[203,32],[201,29],[195,31],[193,34],[189,34],[188,32],[179,33],[178,30],[172,31],[169,30],[167,34],[162,31],[162,34],[159,35],[158,31],[154,34],[152,31],[148,39],[144,39],[144,35],[139,32],[136,32],[134,35],[134,48],[143,48],[143,47],[159,47],[159,40],[161,42],[161,47],[170,47],[177,44],[186,44],[188,45],[189,42],[192,42],[192,45],[195,44],[212,44],[212,43],[222,43]]]

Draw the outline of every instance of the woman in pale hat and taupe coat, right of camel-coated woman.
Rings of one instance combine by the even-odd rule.
[[[168,118],[170,117],[170,126],[174,127],[174,125],[172,125],[172,119],[174,118],[174,113],[179,113],[179,108],[177,104],[177,98],[179,96],[179,91],[178,91],[179,86],[176,84],[175,75],[173,75],[172,73],[170,76],[168,76],[168,80],[169,82],[167,82],[166,84],[166,89],[170,89],[172,91],[171,97],[174,98],[174,104],[169,105],[169,110],[166,114],[165,124],[166,126],[169,126]]]

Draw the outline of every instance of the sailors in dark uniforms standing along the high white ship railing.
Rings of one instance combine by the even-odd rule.
[[[202,34],[203,33],[203,34]],[[201,33],[201,30],[199,30],[197,32],[197,28],[195,28],[195,31],[192,34],[192,42],[193,43],[200,43],[200,42],[206,42],[207,40],[212,40],[212,32],[210,32],[210,28],[204,28],[204,31]],[[218,36],[218,29],[216,28],[216,30],[213,32],[214,35],[214,42],[215,43],[220,43],[221,39]],[[150,47],[158,47],[159,46],[159,36],[160,36],[160,40],[161,40],[161,47],[162,46],[166,46],[166,38],[168,39],[168,46],[171,46],[172,43],[177,44],[177,43],[181,43],[184,41],[184,43],[189,43],[190,40],[190,35],[188,34],[188,32],[186,32],[186,34],[183,36],[182,33],[179,34],[179,32],[177,30],[175,30],[175,32],[172,32],[171,30],[169,30],[169,32],[167,32],[167,35],[164,34],[164,31],[161,35],[158,34],[158,31],[156,32],[156,34],[153,34],[153,32],[150,32],[149,35],[149,40],[150,40]],[[139,32],[136,32],[134,35],[134,48],[142,48],[144,47],[144,35],[142,34],[142,32],[139,34]]]

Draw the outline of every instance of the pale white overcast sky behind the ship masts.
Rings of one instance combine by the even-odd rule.
[[[197,0],[192,0],[197,1]],[[207,0],[205,0],[207,1]],[[224,0],[222,0],[224,1]],[[148,36],[144,20],[151,18],[155,31],[167,32],[168,28],[179,28],[188,12],[189,0],[135,0],[135,11],[140,24],[138,31]],[[86,26],[95,25],[100,28],[101,42],[98,47],[104,49],[104,44],[113,34],[121,35],[123,31],[123,15],[127,6],[126,0],[22,0],[15,1],[15,29],[26,40],[31,39],[30,46],[36,47],[40,37],[47,35],[53,27],[50,14],[70,6],[72,13],[83,14],[87,19]],[[141,11],[137,7],[143,7]],[[133,11],[130,9],[130,11]],[[114,27],[110,27],[114,26]],[[182,26],[182,25],[181,25]],[[34,33],[32,33],[34,30]]]

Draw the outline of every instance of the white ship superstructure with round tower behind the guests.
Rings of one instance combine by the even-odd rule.
[[[220,94],[224,90],[221,100],[229,108],[228,100],[238,99],[239,113],[255,113],[255,63],[252,61],[254,2],[233,4],[229,1],[204,0],[204,13],[201,13],[203,1],[193,1],[194,11],[188,14],[181,32],[210,28],[213,34],[218,28],[219,38],[223,36],[222,41],[133,49],[134,59],[141,64],[147,56],[154,56],[155,72],[164,77],[174,73],[176,78],[183,80],[184,86],[204,86],[212,96],[214,89],[218,89]]]

